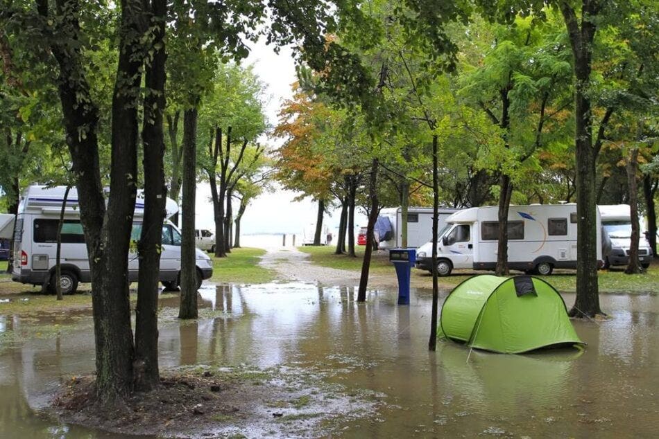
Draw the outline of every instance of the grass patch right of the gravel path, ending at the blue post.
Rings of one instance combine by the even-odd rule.
[[[333,246],[304,246],[298,250],[309,254],[309,260],[316,265],[341,270],[360,271],[363,260],[363,248],[355,249],[357,258],[348,255],[335,255]],[[388,251],[374,251],[370,260],[370,274],[391,274],[396,276],[391,262],[389,262]]]

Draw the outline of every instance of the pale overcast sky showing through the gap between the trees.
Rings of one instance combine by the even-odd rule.
[[[259,42],[253,47],[246,64],[252,64],[254,72],[266,84],[266,116],[271,125],[277,125],[277,114],[282,102],[291,98],[291,84],[296,81],[291,48],[282,48],[276,54],[272,46]],[[275,145],[272,138],[264,138],[262,141],[271,147]],[[241,233],[302,233],[306,225],[316,222],[318,206],[309,198],[293,201],[298,195],[280,189],[253,200],[243,215]],[[198,184],[196,204],[196,227],[213,229],[213,204],[207,183]],[[330,229],[338,227],[339,212],[325,215],[324,222]],[[356,215],[355,224],[366,226],[366,217]]]

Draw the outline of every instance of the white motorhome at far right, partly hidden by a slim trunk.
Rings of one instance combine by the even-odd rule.
[[[599,206],[603,232],[611,240],[610,252],[604,255],[604,267],[627,265],[631,247],[631,208],[628,204],[607,204]],[[639,225],[638,260],[643,268],[650,266],[652,249],[643,237]]]

